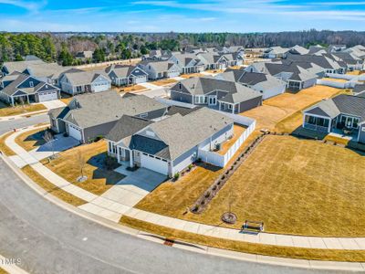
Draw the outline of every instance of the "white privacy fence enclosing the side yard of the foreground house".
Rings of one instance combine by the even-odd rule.
[[[214,153],[210,151],[199,150],[199,158],[202,159],[205,163],[211,163],[219,167],[224,167],[235,155],[241,145],[245,142],[248,136],[251,135],[252,132],[255,131],[256,121],[254,119],[244,117],[241,115],[225,113],[220,111],[220,113],[224,113],[226,116],[232,118],[235,123],[244,125],[247,127],[245,132],[241,134],[241,136],[235,141],[235,143],[229,148],[229,150],[223,155],[219,153]]]

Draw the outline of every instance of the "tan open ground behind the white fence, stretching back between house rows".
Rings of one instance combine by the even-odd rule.
[[[272,131],[285,129],[286,132],[292,132],[301,124],[301,111],[322,99],[328,99],[343,92],[344,90],[326,86],[315,86],[297,93],[286,92],[265,100],[261,107],[241,114],[254,118],[257,122],[256,129],[266,128]],[[277,123],[284,119],[289,126],[285,124],[281,125],[281,128],[276,128]]]

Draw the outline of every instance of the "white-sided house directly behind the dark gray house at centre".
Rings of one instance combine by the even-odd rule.
[[[265,73],[248,72],[244,69],[227,69],[215,77],[238,82],[263,95],[263,100],[282,94],[287,89],[287,83]]]

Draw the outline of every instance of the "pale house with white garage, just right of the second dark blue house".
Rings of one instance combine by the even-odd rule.
[[[177,77],[181,70],[171,61],[144,60],[138,64],[138,67],[148,73],[148,78],[152,80]]]

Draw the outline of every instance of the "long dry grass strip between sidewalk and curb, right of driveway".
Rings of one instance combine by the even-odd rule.
[[[327,261],[364,262],[364,250],[340,250],[340,249],[311,249],[289,248],[270,245],[259,245],[235,240],[227,240],[218,237],[202,236],[182,230],[172,229],[143,222],[128,216],[122,216],[120,224],[132,227],[152,234],[160,235],[172,240],[194,243],[212,248],[228,249],[237,252],[245,252],[264,256],[281,258],[300,258]]]

